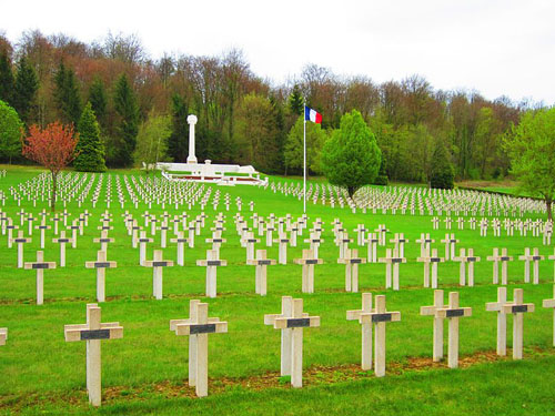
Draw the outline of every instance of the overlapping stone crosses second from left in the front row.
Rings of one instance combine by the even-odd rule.
[[[208,303],[192,300],[188,319],[171,319],[170,331],[189,336],[189,385],[196,396],[208,396],[208,335],[228,332],[228,323],[208,316]]]

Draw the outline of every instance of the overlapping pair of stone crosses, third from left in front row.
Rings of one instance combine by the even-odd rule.
[[[290,303],[291,305],[287,305]],[[287,312],[291,311],[290,314]],[[291,375],[293,387],[303,386],[303,328],[320,326],[320,316],[309,316],[303,313],[303,300],[282,297],[282,314],[264,315],[264,324],[273,325],[274,329],[290,332],[284,343],[282,335],[282,374]],[[285,345],[284,345],[285,344]],[[284,351],[289,351],[289,354]],[[289,363],[287,363],[289,362]],[[287,365],[289,364],[289,365]],[[289,367],[289,368],[287,368]],[[287,374],[289,373],[289,374]]]

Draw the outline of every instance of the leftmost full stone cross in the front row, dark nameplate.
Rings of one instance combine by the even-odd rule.
[[[87,390],[89,403],[99,407],[102,402],[101,383],[101,353],[102,339],[123,338],[123,327],[119,322],[101,323],[100,307],[95,304],[87,305],[87,323],[64,325],[65,342],[87,341]]]

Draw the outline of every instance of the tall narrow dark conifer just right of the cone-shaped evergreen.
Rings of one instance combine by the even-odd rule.
[[[115,82],[114,109],[118,114],[113,162],[122,168],[133,164],[133,152],[139,132],[139,109],[135,94],[125,74]]]

